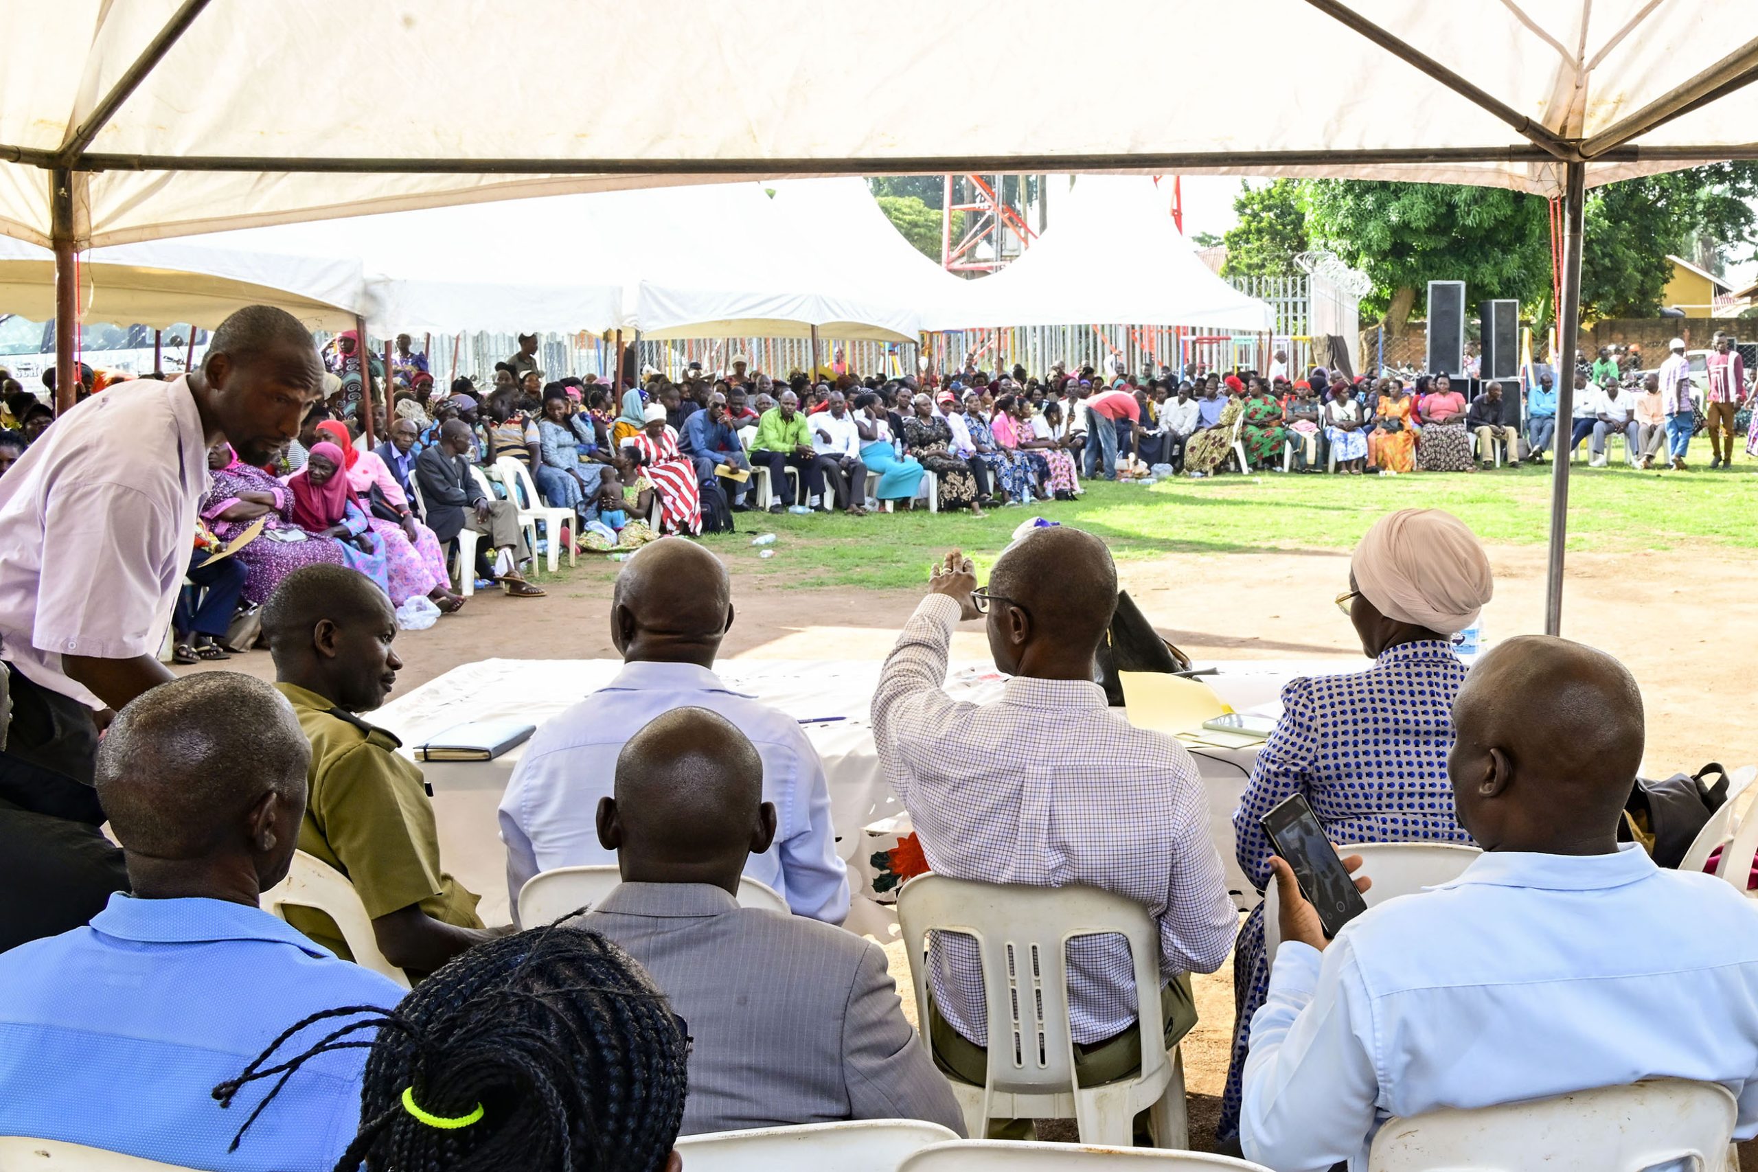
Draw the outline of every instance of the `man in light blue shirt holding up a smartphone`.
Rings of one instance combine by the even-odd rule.
[[[1758,1133],[1758,910],[1617,843],[1642,696],[1612,657],[1508,640],[1454,701],[1459,824],[1484,854],[1329,944],[1275,861],[1282,947],[1239,1137],[1278,1172],[1368,1167],[1389,1116],[1638,1079],[1719,1082]]]

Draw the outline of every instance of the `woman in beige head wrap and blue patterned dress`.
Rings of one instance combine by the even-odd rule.
[[[1471,842],[1454,819],[1447,780],[1452,699],[1464,684],[1452,636],[1477,622],[1493,590],[1484,546],[1452,513],[1403,510],[1361,539],[1336,604],[1375,662],[1282,689],[1282,719],[1232,815],[1239,868],[1259,893],[1271,880],[1259,819],[1292,794],[1306,796],[1334,845]],[[1238,1017],[1222,1139],[1239,1130],[1252,1014],[1269,986],[1262,905],[1239,930],[1232,965]]]

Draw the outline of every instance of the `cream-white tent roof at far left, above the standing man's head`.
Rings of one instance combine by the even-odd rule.
[[[280,306],[313,330],[341,330],[371,306],[357,260],[207,250],[185,241],[95,248],[79,265],[88,322],[214,329],[234,309]],[[54,253],[0,237],[0,311],[54,316]]]

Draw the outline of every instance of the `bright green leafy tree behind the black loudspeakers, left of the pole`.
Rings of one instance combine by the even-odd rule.
[[[1536,195],[1442,183],[1315,179],[1308,232],[1373,279],[1366,313],[1403,332],[1429,281],[1464,281],[1471,302],[1529,302],[1551,283],[1549,211]]]

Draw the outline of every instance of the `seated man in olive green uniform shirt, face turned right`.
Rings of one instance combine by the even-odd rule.
[[[373,919],[378,951],[411,977],[510,931],[485,930],[478,896],[440,868],[431,791],[401,742],[357,713],[385,701],[403,662],[390,601],[345,566],[304,566],[269,597],[262,631],[274,687],[311,740],[309,798],[299,849],[348,877]],[[288,908],[288,922],[352,959],[322,912]]]

